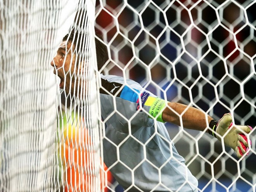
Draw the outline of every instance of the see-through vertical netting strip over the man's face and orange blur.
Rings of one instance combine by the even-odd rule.
[[[74,24],[52,61],[54,73],[61,78],[59,82],[56,76],[61,87],[57,148],[58,179],[64,191],[103,188],[94,15],[95,2],[80,2]]]

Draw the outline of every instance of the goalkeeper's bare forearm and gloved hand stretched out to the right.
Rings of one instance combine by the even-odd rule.
[[[247,134],[252,131],[252,128],[246,125],[234,125],[230,114],[224,114],[220,121],[214,121],[213,118],[194,107],[174,102],[169,102],[168,106],[172,110],[169,107],[163,110],[163,121],[180,126],[182,120],[183,127],[199,131],[204,131],[209,125],[212,130],[208,133],[220,141],[223,138],[224,144],[234,149],[239,158],[249,149],[251,141]],[[182,114],[181,118],[174,111],[179,115]]]

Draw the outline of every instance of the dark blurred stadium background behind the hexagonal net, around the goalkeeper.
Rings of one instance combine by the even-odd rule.
[[[135,80],[215,119],[231,112],[235,124],[255,130],[255,10],[251,0],[97,0],[95,31],[109,49],[100,72]],[[166,126],[199,189],[255,190],[255,131],[251,152],[237,161],[208,133]],[[114,181],[111,186],[123,191]]]

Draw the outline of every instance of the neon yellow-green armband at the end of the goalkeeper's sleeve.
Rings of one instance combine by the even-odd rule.
[[[164,120],[162,119],[162,113],[165,106],[166,106],[165,100],[156,98],[149,109],[149,114],[151,115],[149,117],[152,118],[153,116],[155,118],[157,116],[156,118],[157,121],[165,123]]]

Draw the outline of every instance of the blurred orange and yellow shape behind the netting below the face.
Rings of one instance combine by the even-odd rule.
[[[97,175],[93,174],[93,163],[97,160],[97,154],[93,150],[92,138],[90,138],[86,128],[68,125],[64,127],[63,138],[61,139],[61,160],[64,170],[65,192],[86,191],[94,192]],[[99,162],[99,161],[97,161]],[[101,162],[101,159],[100,159]],[[113,176],[107,171],[107,166],[102,162],[100,168],[100,189],[105,192],[107,182],[112,182]],[[102,170],[104,169],[104,171]],[[97,184],[96,184],[97,185]]]

